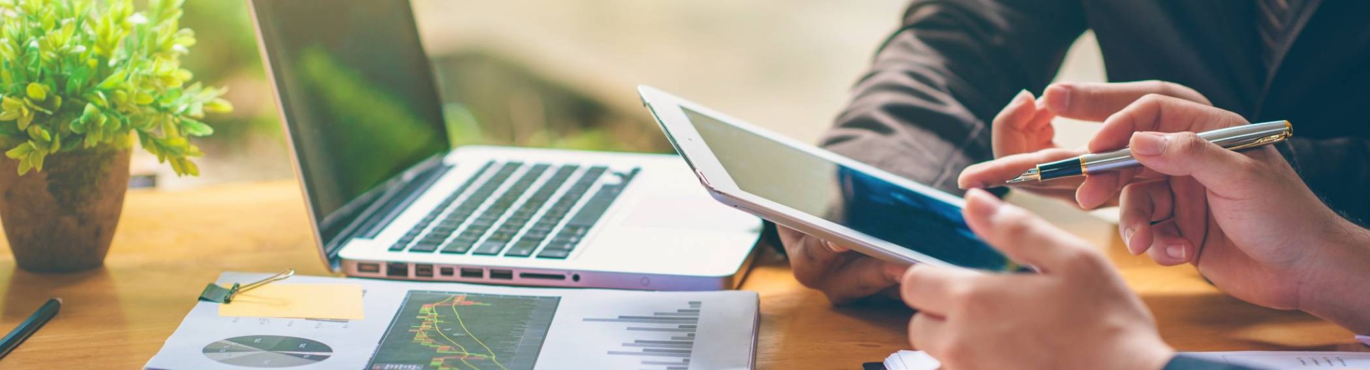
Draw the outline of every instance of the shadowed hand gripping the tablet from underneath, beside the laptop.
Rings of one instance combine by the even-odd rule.
[[[789,255],[795,278],[804,286],[823,292],[834,304],[881,292],[897,296],[897,291],[889,288],[899,284],[904,266],[878,260],[785,226],[777,226],[777,232]]]

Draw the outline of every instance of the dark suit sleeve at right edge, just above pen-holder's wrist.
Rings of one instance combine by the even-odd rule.
[[[1297,132],[1295,132],[1297,134]],[[1322,203],[1360,226],[1370,226],[1370,143],[1365,138],[1291,137],[1281,152]]]

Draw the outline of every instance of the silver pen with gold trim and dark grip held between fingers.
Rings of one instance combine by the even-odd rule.
[[[1241,125],[1236,127],[1217,129],[1199,133],[1199,137],[1208,140],[1229,151],[1249,149],[1260,145],[1270,145],[1293,136],[1293,125],[1289,121],[1274,121],[1265,123]],[[1088,153],[1078,158],[1056,160],[1037,164],[1037,167],[1010,180],[1007,184],[1026,181],[1048,181],[1064,177],[1089,175],[1106,171],[1117,171],[1140,166],[1132,158],[1129,148],[1104,153]]]

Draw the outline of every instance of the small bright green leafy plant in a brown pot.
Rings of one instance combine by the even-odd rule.
[[[190,84],[184,0],[0,0],[0,222],[19,267],[78,271],[110,249],[133,141],[196,175],[188,141],[227,112]]]

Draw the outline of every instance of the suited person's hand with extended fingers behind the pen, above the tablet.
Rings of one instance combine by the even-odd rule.
[[[1040,100],[1021,92],[1010,101],[992,125],[995,160],[967,167],[958,178],[962,189],[1003,184],[1038,163],[1055,162],[1088,153],[1085,148],[1062,148],[1056,144],[1051,119],[1056,116],[1103,122],[1114,112],[1147,95],[1173,96],[1208,106],[1199,92],[1162,81],[1114,84],[1052,84]],[[1091,197],[1092,189],[1084,178],[1062,178],[1048,182],[1014,185],[1015,189],[1062,199],[1082,208],[1117,204],[1115,196]],[[1085,197],[1077,195],[1081,189]]]

